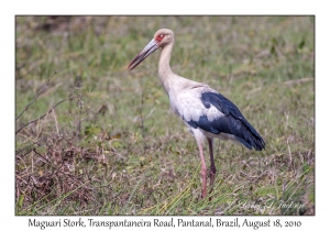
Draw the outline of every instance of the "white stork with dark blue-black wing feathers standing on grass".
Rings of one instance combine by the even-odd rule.
[[[202,146],[208,141],[210,153],[210,185],[216,176],[213,158],[213,139],[231,140],[249,150],[262,151],[265,142],[248,122],[239,108],[207,84],[197,82],[174,74],[169,66],[174,33],[168,29],[158,30],[153,40],[131,62],[132,70],[156,50],[162,48],[158,63],[158,77],[169,98],[170,108],[179,116],[195,136],[201,161],[201,197],[207,196],[207,167]]]

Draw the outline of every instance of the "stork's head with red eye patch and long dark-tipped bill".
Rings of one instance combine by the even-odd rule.
[[[166,45],[174,43],[174,33],[168,29],[158,30],[152,41],[140,52],[140,54],[131,62],[128,69],[132,70],[139,64],[141,64],[147,56],[157,51],[158,48],[163,48]]]

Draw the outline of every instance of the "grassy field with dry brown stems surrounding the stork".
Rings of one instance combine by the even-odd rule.
[[[315,213],[312,16],[15,20],[16,215]],[[211,200],[160,51],[127,70],[161,28],[176,35],[172,69],[233,101],[266,142],[215,142]]]

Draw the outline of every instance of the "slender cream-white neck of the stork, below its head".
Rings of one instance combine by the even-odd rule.
[[[174,44],[170,43],[165,47],[163,47],[160,63],[158,63],[158,76],[167,95],[169,92],[170,82],[174,80],[174,78],[176,78],[176,75],[172,72],[169,66],[173,45]]]

